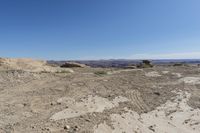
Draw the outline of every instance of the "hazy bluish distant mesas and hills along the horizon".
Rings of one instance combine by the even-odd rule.
[[[200,59],[164,59],[164,60],[150,60],[153,64],[166,65],[174,63],[185,63],[185,64],[200,64]],[[129,65],[139,64],[142,60],[126,60],[126,59],[111,59],[111,60],[66,60],[66,61],[48,61],[49,64],[62,65],[65,62],[77,62],[86,64],[91,67],[116,67],[122,68]]]

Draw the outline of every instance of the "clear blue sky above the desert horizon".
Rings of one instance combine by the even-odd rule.
[[[199,0],[1,0],[0,57],[200,58]]]

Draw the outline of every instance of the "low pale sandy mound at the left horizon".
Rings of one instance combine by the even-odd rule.
[[[33,60],[27,58],[0,58],[0,66],[10,70],[23,70],[29,72],[73,72],[71,69],[52,67],[43,60]]]

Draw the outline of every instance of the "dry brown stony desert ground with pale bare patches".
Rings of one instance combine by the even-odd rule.
[[[199,108],[194,66],[0,71],[1,133],[199,133]]]

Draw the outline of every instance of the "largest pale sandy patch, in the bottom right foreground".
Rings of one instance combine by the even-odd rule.
[[[155,110],[138,114],[124,108],[126,113],[111,114],[112,126],[103,122],[94,126],[95,133],[199,133],[200,110],[188,106],[190,94],[178,92],[176,99]]]

